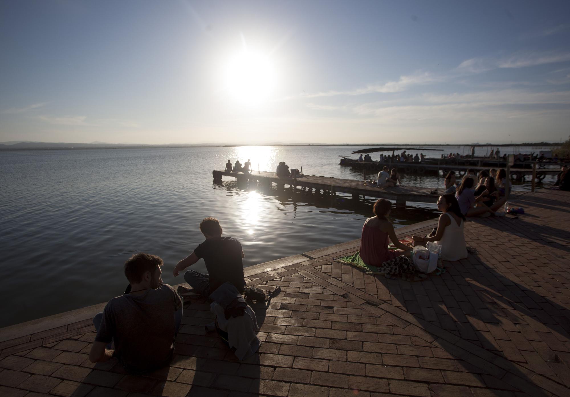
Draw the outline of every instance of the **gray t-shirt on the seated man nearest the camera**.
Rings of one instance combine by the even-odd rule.
[[[115,342],[115,354],[129,372],[162,367],[174,351],[174,312],[182,301],[168,284],[142,295],[121,295],[107,303],[96,342]]]

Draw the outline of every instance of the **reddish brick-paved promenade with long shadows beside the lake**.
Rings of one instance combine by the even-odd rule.
[[[282,292],[255,308],[259,354],[238,362],[193,300],[170,367],[92,365],[103,305],[0,329],[0,396],[570,395],[570,193],[519,193],[518,219],[466,224],[469,258],[408,283],[332,262],[359,241],[246,268]],[[398,229],[427,232],[435,221]]]

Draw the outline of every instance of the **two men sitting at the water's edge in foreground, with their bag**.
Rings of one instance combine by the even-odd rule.
[[[204,260],[208,274],[188,270],[184,280],[198,294],[213,300],[214,329],[228,346],[235,348],[238,359],[244,359],[257,351],[259,339],[255,335],[255,313],[242,297],[246,282],[241,243],[233,237],[222,237],[215,218],[205,218],[200,231],[205,241],[174,266],[173,275]],[[111,299],[93,319],[97,334],[89,353],[91,362],[117,357],[128,373],[135,374],[168,365],[182,322],[184,300],[173,287],[162,283],[163,264],[160,257],[145,253],[125,262],[127,290]]]

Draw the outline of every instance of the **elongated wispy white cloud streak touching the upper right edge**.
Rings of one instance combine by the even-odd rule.
[[[526,68],[565,61],[570,61],[570,52],[520,51],[501,58],[475,57],[467,59],[459,64],[457,71],[481,73],[491,69]]]

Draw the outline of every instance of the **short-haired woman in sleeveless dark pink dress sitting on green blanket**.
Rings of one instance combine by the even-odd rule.
[[[380,267],[386,260],[409,254],[409,251],[413,250],[412,246],[402,244],[396,237],[394,226],[388,220],[391,206],[390,201],[381,198],[374,203],[373,211],[376,216],[364,222],[360,239],[360,258],[368,265]],[[388,249],[388,237],[397,250]]]

